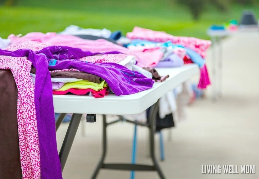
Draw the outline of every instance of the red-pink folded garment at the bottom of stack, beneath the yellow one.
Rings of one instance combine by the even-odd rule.
[[[102,90],[100,91],[95,91],[93,89],[76,89],[76,88],[70,88],[66,91],[55,91],[53,90],[53,94],[57,94],[57,95],[63,95],[63,94],[67,94],[67,93],[73,93],[73,94],[77,94],[77,95],[84,95],[91,92],[92,96],[94,98],[103,98],[105,95],[108,95],[108,91],[107,88],[104,87]]]

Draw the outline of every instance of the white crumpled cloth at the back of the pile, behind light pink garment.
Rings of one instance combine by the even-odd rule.
[[[66,35],[93,35],[98,37],[109,38],[111,36],[111,30],[107,29],[84,29],[76,25],[70,25],[60,34]]]

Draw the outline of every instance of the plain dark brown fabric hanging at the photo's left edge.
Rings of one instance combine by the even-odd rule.
[[[11,70],[0,70],[0,179],[22,179],[17,126],[17,87]]]

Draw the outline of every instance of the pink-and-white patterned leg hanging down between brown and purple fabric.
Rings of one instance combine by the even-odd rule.
[[[40,179],[39,136],[34,105],[31,62],[26,57],[0,57],[0,69],[10,69],[17,89],[17,123],[23,179]]]

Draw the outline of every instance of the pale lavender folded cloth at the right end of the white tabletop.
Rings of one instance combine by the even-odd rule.
[[[176,53],[170,54],[164,61],[157,64],[156,68],[163,67],[181,67],[184,65],[184,60],[181,59]]]

